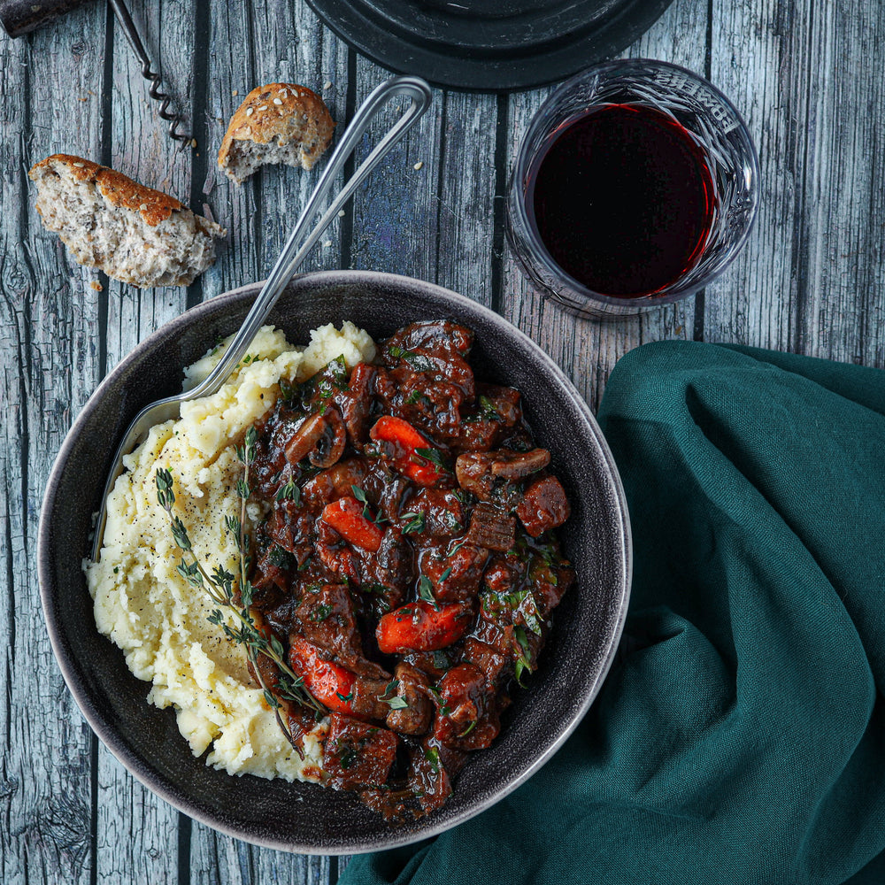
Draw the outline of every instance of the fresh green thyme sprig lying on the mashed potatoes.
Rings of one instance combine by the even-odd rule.
[[[173,514],[175,494],[173,492],[173,475],[170,471],[158,468],[156,473],[157,500],[159,505],[169,515],[175,543],[182,551],[183,556],[178,565],[181,576],[196,589],[203,589],[219,606],[209,616],[212,624],[224,631],[231,642],[244,645],[246,657],[252,664],[252,672],[258,680],[258,685],[264,692],[265,700],[273,710],[277,723],[289,742],[296,747],[295,739],[288,725],[283,721],[280,710],[283,702],[294,702],[312,709],[318,716],[327,713],[326,708],[312,696],[304,685],[304,679],[295,673],[286,661],[286,652],[282,643],[273,634],[267,634],[259,627],[256,614],[252,612],[252,597],[254,589],[249,581],[250,539],[246,531],[246,502],[251,494],[249,487],[249,466],[255,458],[256,431],[250,427],[247,431],[244,444],[237,447],[237,458],[243,466],[243,477],[237,483],[237,494],[240,497],[240,513],[238,516],[228,516],[225,519],[227,530],[234,536],[238,552],[238,575],[231,574],[223,566],[215,566],[212,573],[206,571],[203,563],[196,558],[196,553],[190,542],[187,527],[181,518]],[[222,612],[233,614],[237,623],[231,627],[227,623]],[[273,687],[267,685],[261,669],[258,666],[258,656],[269,658],[277,666],[278,679]],[[273,688],[273,690],[272,690]]]

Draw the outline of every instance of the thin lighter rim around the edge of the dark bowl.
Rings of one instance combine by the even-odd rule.
[[[368,285],[389,285],[392,288],[406,287],[413,290],[421,290],[424,294],[429,294],[437,298],[441,298],[443,303],[450,303],[456,306],[462,306],[467,310],[478,311],[484,315],[484,319],[495,324],[500,328],[504,335],[514,336],[521,341],[524,346],[531,351],[539,362],[539,368],[555,379],[557,386],[566,393],[577,411],[581,413],[581,417],[586,421],[590,433],[594,436],[596,444],[599,448],[599,454],[604,460],[604,465],[608,469],[609,478],[612,481],[612,493],[614,501],[617,504],[619,515],[618,528],[620,531],[620,550],[623,559],[620,562],[620,572],[622,573],[622,581],[620,582],[620,594],[616,599],[618,604],[618,613],[616,619],[612,623],[612,630],[608,636],[609,642],[602,650],[601,658],[603,658],[603,666],[596,676],[596,681],[589,687],[585,696],[581,700],[581,704],[574,709],[571,720],[567,726],[563,728],[556,738],[545,745],[543,750],[535,758],[535,760],[522,773],[512,780],[507,781],[502,789],[498,789],[489,797],[482,798],[476,804],[467,807],[457,817],[443,820],[438,823],[431,823],[426,829],[419,832],[410,832],[407,835],[397,837],[396,829],[390,829],[390,838],[385,840],[368,840],[365,843],[347,843],[340,848],[334,844],[305,844],[298,843],[296,840],[282,843],[273,837],[263,837],[253,832],[244,833],[242,828],[228,825],[224,820],[218,820],[212,814],[204,813],[200,808],[196,807],[196,800],[192,804],[190,801],[182,799],[173,789],[174,785],[167,785],[163,778],[156,772],[151,771],[145,765],[144,760],[139,754],[132,751],[118,733],[112,727],[112,724],[106,722],[96,709],[96,704],[87,693],[85,687],[81,686],[78,674],[75,673],[73,662],[69,661],[62,650],[61,629],[58,620],[58,611],[54,606],[53,594],[51,590],[54,587],[52,574],[50,573],[51,550],[49,547],[50,535],[50,512],[55,503],[58,486],[64,473],[68,458],[71,456],[74,443],[82,431],[89,425],[89,419],[96,409],[96,405],[102,401],[108,392],[115,387],[119,377],[127,372],[129,366],[142,358],[145,351],[150,351],[158,347],[170,336],[178,337],[187,328],[199,320],[203,313],[216,311],[220,306],[227,304],[236,304],[242,300],[244,296],[255,296],[263,285],[263,281],[248,283],[236,289],[215,296],[212,299],[197,304],[188,311],[181,313],[179,316],[169,320],[163,326],[158,327],[156,331],[139,342],[135,348],[122,358],[113,369],[107,373],[100,382],[96,390],[89,397],[86,404],[83,405],[81,412],[74,419],[73,424],[65,435],[55,462],[50,472],[49,480],[42,499],[42,508],[40,514],[40,523],[37,533],[37,574],[40,588],[40,598],[42,604],[43,619],[50,637],[50,644],[55,655],[58,667],[68,690],[71,692],[74,701],[80,708],[82,715],[89,722],[89,726],[96,733],[97,737],[104,743],[104,746],[110,750],[112,756],[124,766],[138,781],[150,789],[151,792],[157,794],[165,802],[171,804],[173,808],[187,814],[193,820],[205,824],[207,827],[219,831],[225,835],[233,836],[236,839],[246,841],[248,843],[257,844],[274,850],[285,850],[289,852],[297,852],[304,854],[320,854],[320,855],[336,855],[336,854],[356,854],[374,850],[388,850],[398,848],[404,845],[419,842],[420,840],[430,838],[435,835],[456,827],[466,820],[470,820],[477,814],[485,811],[492,804],[496,804],[500,799],[508,796],[513,790],[521,786],[533,774],[535,774],[546,762],[552,758],[556,751],[566,742],[574,729],[578,726],[584,714],[588,711],[590,705],[596,699],[604,680],[611,669],[612,661],[620,641],[620,635],[623,632],[624,622],[627,617],[627,604],[630,596],[630,585],[633,573],[633,549],[632,539],[630,535],[630,522],[627,512],[627,501],[624,489],[620,481],[620,475],[612,458],[611,450],[605,442],[602,430],[596,422],[593,413],[590,411],[588,404],[583,397],[574,388],[573,384],[566,377],[566,374],[559,368],[550,356],[544,352],[531,338],[523,333],[519,328],[512,325],[504,319],[500,314],[490,310],[484,304],[474,301],[466,296],[459,295],[450,289],[445,289],[436,283],[421,281],[414,277],[408,277],[396,273],[382,273],[378,271],[361,271],[361,270],[338,270],[338,271],[316,271],[311,273],[297,274],[289,283],[289,288],[283,297],[290,294],[292,289],[310,289],[312,284],[317,286],[359,286],[360,283]],[[232,330],[233,331],[233,330]],[[184,366],[181,366],[183,369]],[[140,404],[143,405],[143,404]],[[113,441],[116,443],[116,441]],[[85,589],[85,581],[84,581]],[[118,650],[119,651],[119,650]],[[145,702],[146,703],[146,702]]]

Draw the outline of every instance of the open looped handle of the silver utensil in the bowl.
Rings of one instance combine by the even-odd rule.
[[[338,196],[335,197],[322,218],[319,219],[316,227],[305,238],[305,233],[319,211],[320,204],[323,203],[329,190],[332,188],[335,177],[341,172],[344,163],[357,147],[360,138],[366,132],[372,119],[390,98],[396,96],[408,96],[412,99],[412,104],[359,165],[350,181],[344,184]],[[326,170],[323,172],[310,199],[307,201],[307,205],[304,206],[304,212],[301,213],[301,218],[298,219],[295,229],[289,235],[289,240],[286,242],[280,258],[277,258],[276,264],[268,275],[264,288],[258,293],[255,303],[252,304],[250,312],[247,314],[246,319],[243,320],[240,331],[237,332],[234,340],[230,342],[218,366],[215,366],[212,373],[201,384],[189,391],[188,399],[196,399],[198,396],[211,396],[220,389],[231,370],[240,362],[246,350],[249,350],[249,346],[258,329],[264,324],[267,315],[273,309],[273,305],[277,303],[277,299],[281,296],[283,289],[286,288],[293,274],[301,266],[314,243],[319,240],[319,237],[337,216],[342,205],[350,199],[350,196],[366,179],[366,176],[372,172],[374,167],[381,162],[381,159],[388,154],[389,150],[400,141],[421,115],[427,111],[431,100],[430,87],[425,81],[419,77],[399,76],[391,77],[388,81],[375,87],[371,95],[366,98],[366,101],[359,106],[358,111],[350,121],[350,126],[347,127],[341,141],[338,142],[338,146],[335,148],[335,152],[332,154]]]

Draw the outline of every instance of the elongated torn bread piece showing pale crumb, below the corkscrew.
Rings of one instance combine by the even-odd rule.
[[[134,286],[189,286],[227,231],[106,166],[53,154],[28,173],[37,212],[81,265]]]

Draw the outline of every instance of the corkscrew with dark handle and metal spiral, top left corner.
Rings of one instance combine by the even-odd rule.
[[[52,19],[58,19],[65,12],[71,12],[86,0],[0,0],[0,24],[11,37],[19,37],[29,31],[41,27]],[[160,103],[159,115],[169,124],[169,136],[181,146],[188,144],[191,136],[179,132],[181,126],[181,114],[170,112],[172,98],[160,91],[161,78],[159,73],[150,69],[150,57],[144,49],[142,37],[135,27],[135,22],[123,0],[109,0],[114,15],[117,17],[119,26],[123,28],[127,42],[132,47],[142,65],[142,77],[150,82],[148,95]]]

